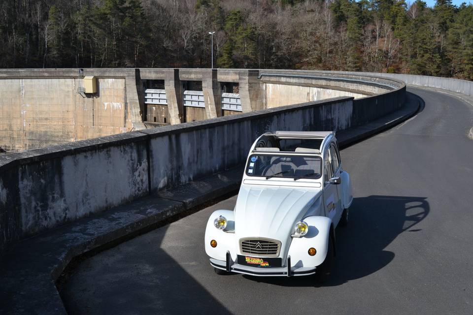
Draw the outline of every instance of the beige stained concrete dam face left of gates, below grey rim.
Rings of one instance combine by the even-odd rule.
[[[131,130],[124,79],[99,79],[97,97],[77,94],[78,80],[0,80],[6,96],[0,98],[3,149],[19,151]]]

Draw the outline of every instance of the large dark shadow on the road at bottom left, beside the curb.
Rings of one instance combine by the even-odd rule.
[[[232,314],[185,270],[196,265],[186,261],[189,257],[207,262],[201,248],[176,245],[183,249],[180,262],[162,248],[168,229],[169,225],[160,227],[81,262],[60,289],[67,313],[196,314],[212,310],[213,314]],[[203,231],[200,237],[203,239]]]

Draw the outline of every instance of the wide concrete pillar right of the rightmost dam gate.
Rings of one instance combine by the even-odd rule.
[[[259,70],[239,70],[238,88],[243,113],[264,109],[264,85]]]

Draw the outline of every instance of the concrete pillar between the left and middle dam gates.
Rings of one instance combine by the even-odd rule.
[[[169,69],[166,72],[164,80],[164,88],[166,90],[166,98],[168,100],[169,121],[171,125],[182,123],[183,95],[182,84],[179,80],[179,69]]]

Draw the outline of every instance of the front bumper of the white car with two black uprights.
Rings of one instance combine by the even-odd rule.
[[[291,257],[287,258],[286,267],[260,268],[244,266],[233,262],[230,254],[227,254],[227,261],[210,258],[210,264],[215,268],[229,272],[259,277],[308,276],[315,274],[316,269],[315,267],[290,267]]]

